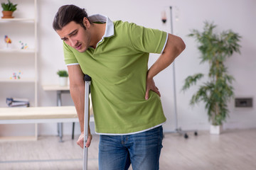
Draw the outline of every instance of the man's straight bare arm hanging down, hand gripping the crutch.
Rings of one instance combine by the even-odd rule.
[[[68,66],[68,74],[70,79],[70,94],[75,103],[75,109],[78,113],[80,123],[81,135],[78,138],[77,144],[83,148],[84,141],[84,111],[85,111],[85,81],[83,80],[84,74],[80,65]],[[86,147],[90,146],[92,135],[90,134],[90,126],[88,126],[88,138]]]

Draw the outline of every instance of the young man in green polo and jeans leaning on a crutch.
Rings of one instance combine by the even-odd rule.
[[[95,131],[100,135],[99,169],[159,169],[166,121],[153,77],[185,49],[181,38],[137,26],[87,16],[78,6],[61,6],[53,28],[63,40],[70,94],[80,120],[83,145],[83,74],[92,77]],[[161,54],[148,69],[149,53]],[[86,147],[90,146],[88,136]]]

